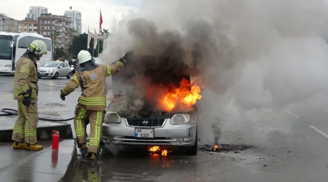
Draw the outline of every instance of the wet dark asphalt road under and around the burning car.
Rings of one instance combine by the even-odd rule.
[[[12,76],[0,76],[0,94],[12,93],[12,81]],[[65,77],[39,80],[40,116],[51,110],[62,118],[73,117],[80,88],[62,101],[59,91],[67,81]],[[7,107],[16,107],[16,102],[0,99],[2,104],[5,101]],[[74,181],[93,177],[96,181],[327,181],[328,124],[324,118],[328,113],[300,107],[274,117],[278,123],[288,122],[289,127],[264,130],[267,139],[244,151],[199,150],[196,156],[186,156],[173,150],[162,157],[144,149],[114,146],[115,154],[102,153],[96,161],[83,159],[84,151],[80,151]],[[252,129],[258,128],[255,125]],[[227,135],[242,137],[238,131]]]

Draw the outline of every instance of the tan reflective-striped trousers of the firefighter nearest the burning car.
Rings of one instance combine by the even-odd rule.
[[[88,153],[98,152],[101,126],[104,118],[104,111],[91,111],[82,108],[80,104],[76,105],[74,116],[74,129],[79,144],[85,144],[85,120],[89,118],[90,135]]]

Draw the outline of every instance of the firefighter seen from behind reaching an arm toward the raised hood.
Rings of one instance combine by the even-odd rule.
[[[87,51],[80,51],[77,59],[78,67],[73,78],[61,90],[60,96],[65,101],[65,96],[81,86],[81,96],[75,108],[74,129],[77,136],[78,148],[86,149],[85,120],[90,122],[89,146],[85,156],[94,160],[100,142],[101,124],[106,108],[105,78],[118,73],[127,61],[131,59],[132,52],[127,52],[123,58],[113,65],[97,65]]]

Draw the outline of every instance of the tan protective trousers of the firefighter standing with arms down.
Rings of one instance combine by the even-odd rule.
[[[22,101],[18,101],[17,119],[12,140],[32,145],[36,144],[36,126],[38,121],[37,102],[25,106]]]

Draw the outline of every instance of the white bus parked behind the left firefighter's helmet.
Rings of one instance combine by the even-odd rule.
[[[17,60],[26,52],[33,40],[42,40],[47,45],[47,54],[37,62],[40,64],[51,61],[51,39],[37,33],[0,32],[0,75],[15,73]]]

